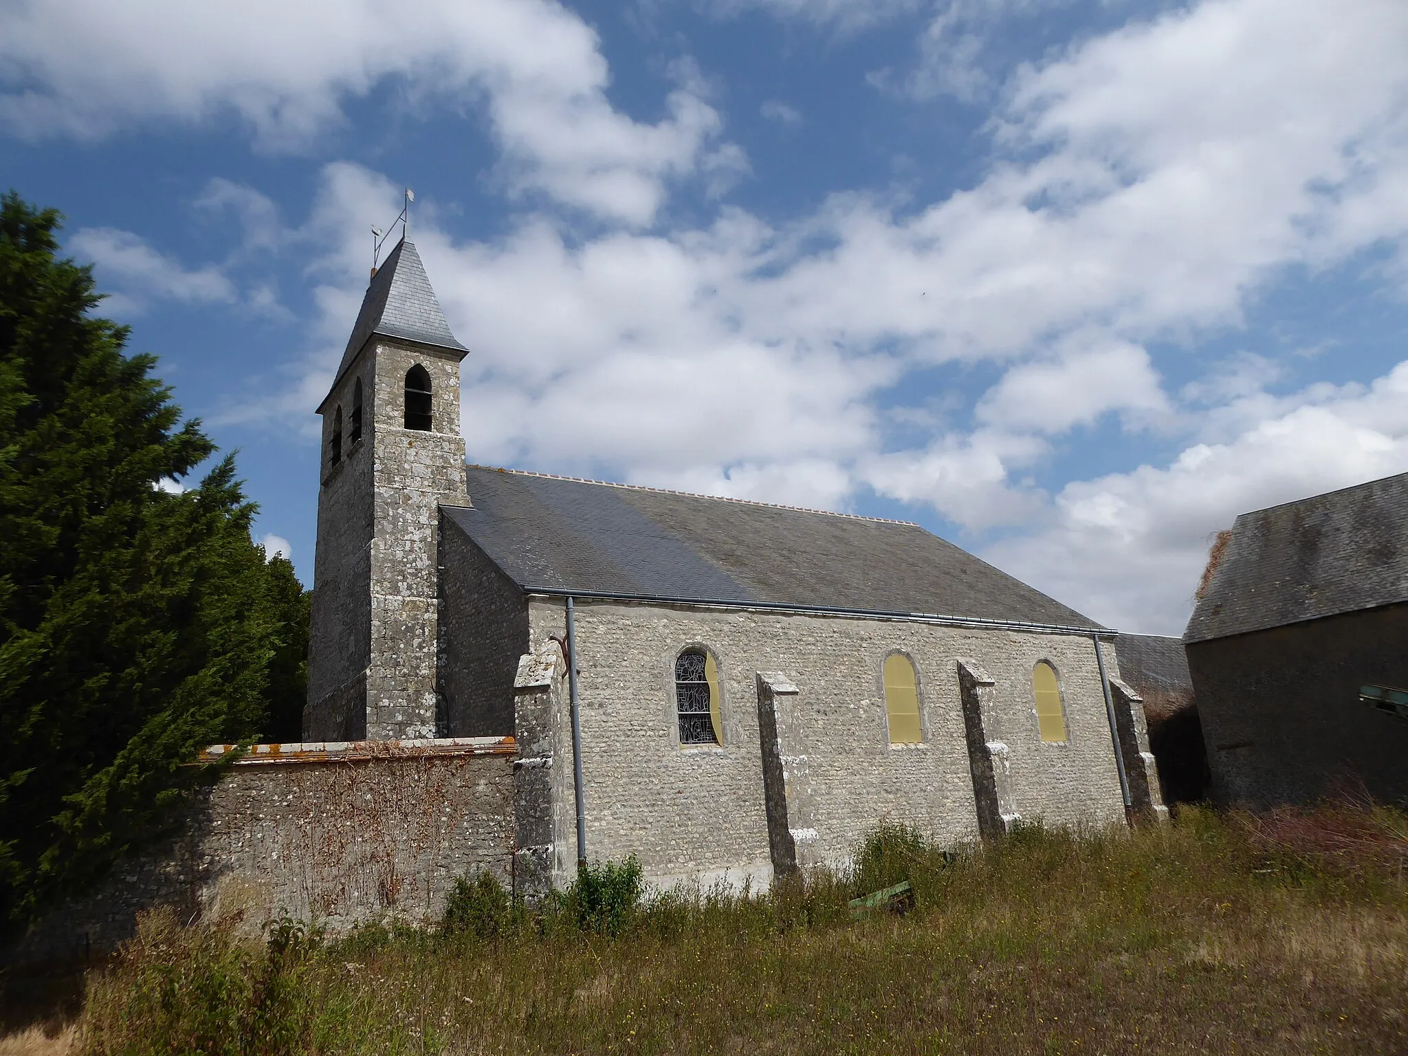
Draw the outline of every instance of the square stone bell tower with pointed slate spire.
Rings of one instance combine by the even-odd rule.
[[[308,646],[307,741],[436,729],[439,505],[469,505],[459,363],[413,242],[372,276],[332,389]]]

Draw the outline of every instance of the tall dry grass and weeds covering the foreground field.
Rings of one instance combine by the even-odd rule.
[[[1408,825],[1184,811],[845,874],[646,893],[622,863],[539,907],[466,879],[436,931],[263,943],[144,919],[89,980],[87,1053],[1408,1052]],[[634,879],[632,879],[634,877]],[[914,910],[853,922],[908,880]]]

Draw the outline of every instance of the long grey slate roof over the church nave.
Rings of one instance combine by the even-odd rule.
[[[1100,625],[915,524],[469,467],[441,507],[525,590]]]

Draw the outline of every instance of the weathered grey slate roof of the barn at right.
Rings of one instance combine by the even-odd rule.
[[[1242,514],[1184,642],[1408,601],[1408,473]]]

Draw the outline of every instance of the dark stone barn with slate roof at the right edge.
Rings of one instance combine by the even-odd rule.
[[[1408,801],[1408,474],[1242,514],[1184,643],[1212,794]]]

